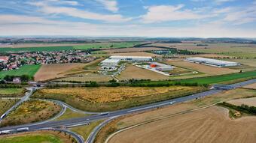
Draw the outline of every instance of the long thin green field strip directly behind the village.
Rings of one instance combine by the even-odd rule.
[[[0,52],[52,52],[52,51],[62,51],[74,49],[73,46],[42,46],[42,47],[27,47],[27,48],[0,48]]]

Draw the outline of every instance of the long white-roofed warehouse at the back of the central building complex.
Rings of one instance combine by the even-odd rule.
[[[119,59],[120,61],[153,61],[152,57],[148,56],[120,56],[120,55],[112,55],[110,59]]]

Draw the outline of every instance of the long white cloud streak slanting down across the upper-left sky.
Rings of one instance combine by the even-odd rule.
[[[39,7],[41,13],[46,14],[63,14],[66,16],[78,17],[81,19],[102,20],[105,22],[127,22],[132,18],[124,18],[120,14],[101,14],[93,13],[87,10],[79,10],[75,7],[50,6],[47,2],[31,2],[29,4]]]

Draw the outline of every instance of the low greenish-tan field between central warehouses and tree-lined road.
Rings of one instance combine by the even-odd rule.
[[[64,77],[61,79],[56,79],[56,81],[60,82],[108,82],[112,78],[110,76],[102,76],[97,73],[80,73],[69,77]]]

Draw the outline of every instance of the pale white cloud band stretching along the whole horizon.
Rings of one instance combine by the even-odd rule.
[[[187,28],[145,25],[102,25],[84,22],[55,24],[1,25],[0,35],[128,36],[128,37],[256,37],[255,28],[223,28],[221,25],[197,25]],[[214,29],[214,30],[213,30]],[[118,31],[118,32],[117,32]]]

